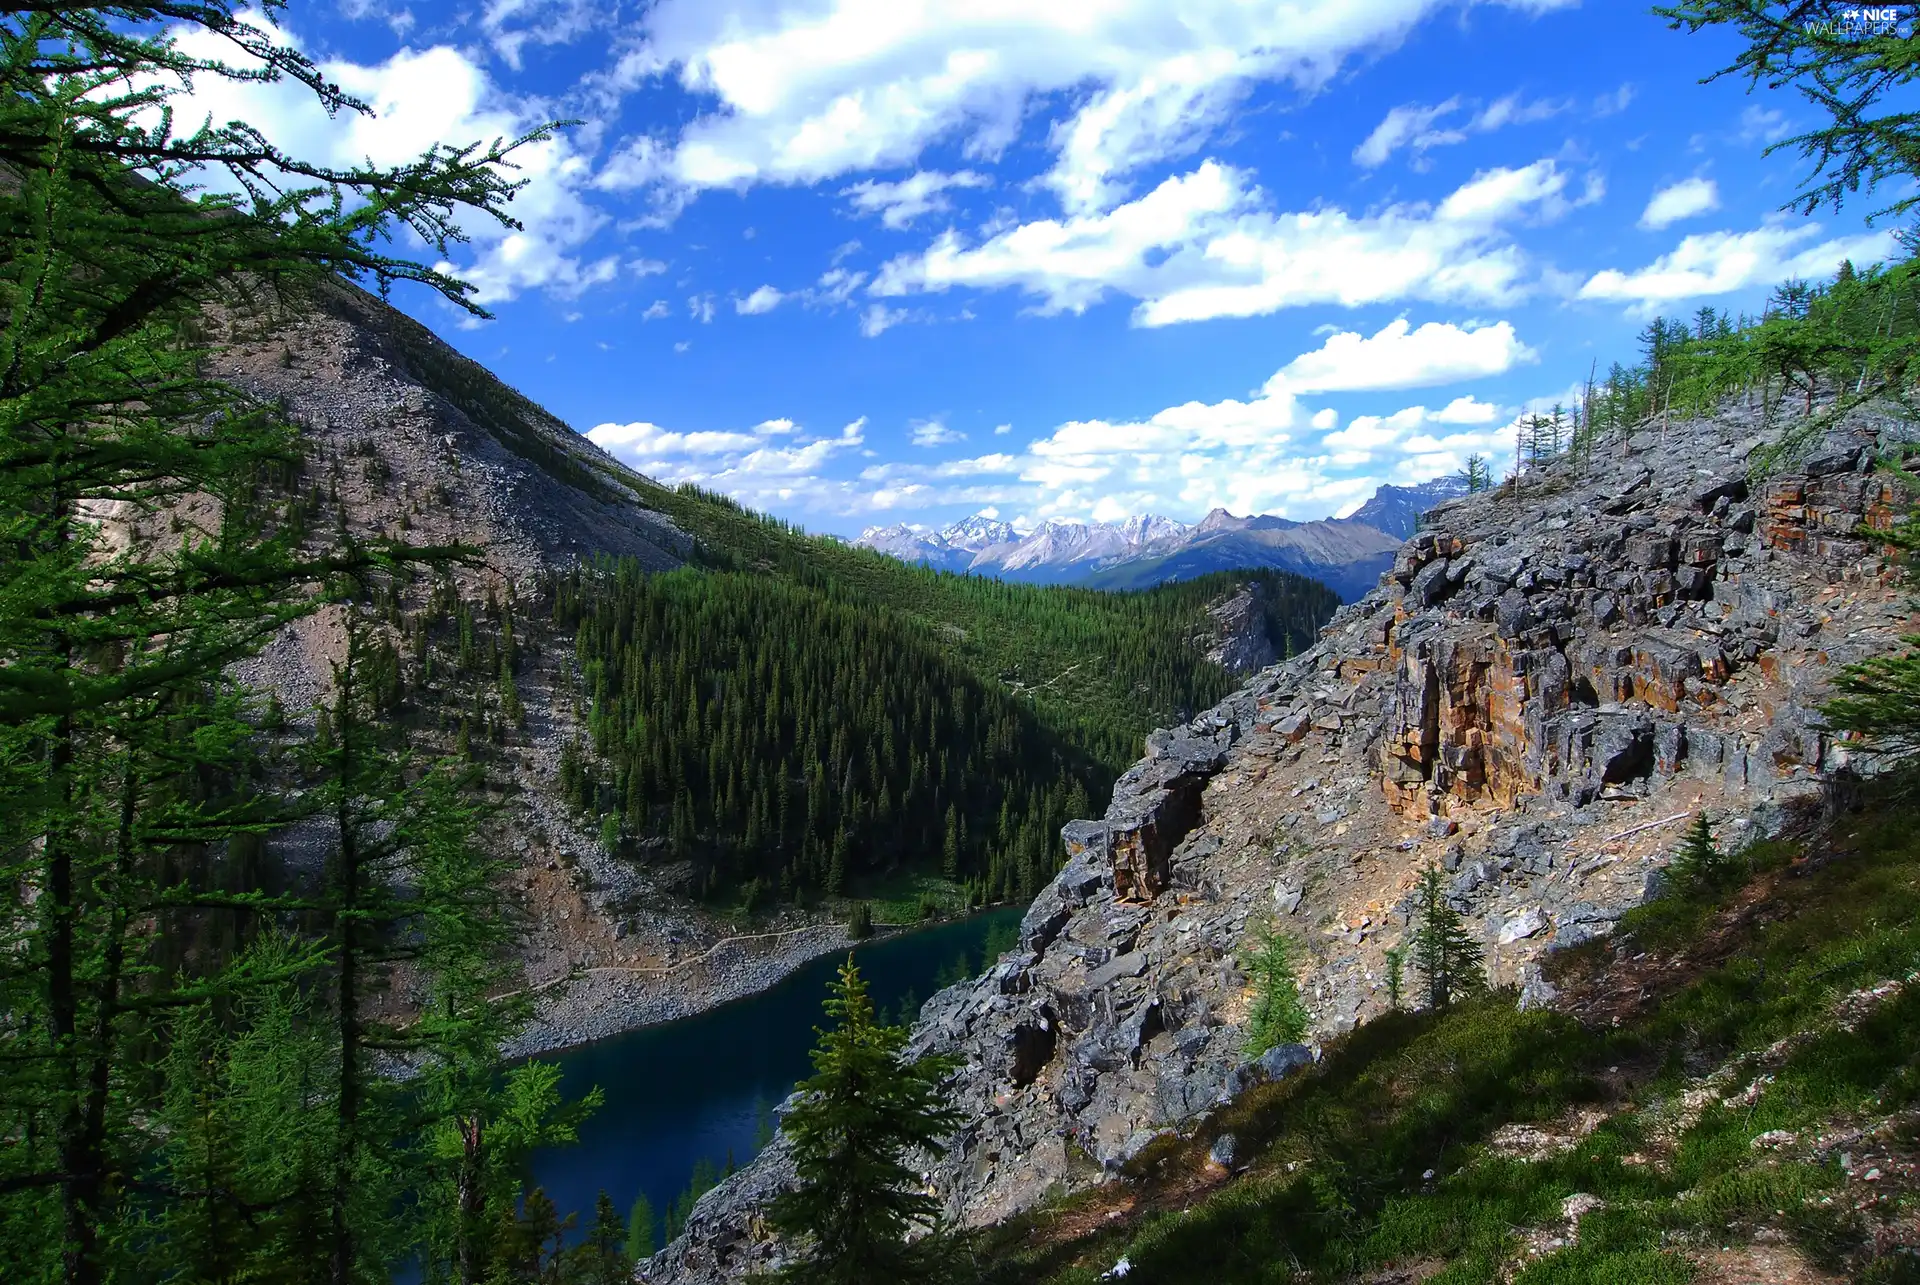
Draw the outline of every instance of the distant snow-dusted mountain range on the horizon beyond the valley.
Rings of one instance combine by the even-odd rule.
[[[1006,522],[973,515],[941,530],[870,526],[854,544],[941,570],[1102,590],[1271,567],[1311,576],[1352,601],[1392,565],[1421,513],[1465,490],[1452,476],[1382,486],[1352,517],[1315,522],[1213,509],[1192,526],[1140,515],[1121,522],[1050,521],[1021,536]]]

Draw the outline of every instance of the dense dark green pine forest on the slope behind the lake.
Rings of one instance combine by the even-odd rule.
[[[628,849],[664,839],[703,893],[749,905],[935,862],[979,897],[1033,895],[1060,826],[1104,805],[1140,734],[1229,690],[1204,659],[1208,603],[1260,584],[1290,647],[1332,605],[1275,572],[1102,595],[847,561],[858,580],[810,563],[795,578],[632,563],[557,578],[588,697],[588,745],[561,763],[568,797],[618,816]],[[975,636],[993,651],[960,642]],[[1092,674],[1068,693],[1012,676],[1043,663]]]

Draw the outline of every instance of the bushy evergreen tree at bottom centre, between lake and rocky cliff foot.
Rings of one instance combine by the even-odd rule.
[[[806,1285],[927,1281],[937,1264],[927,1225],[939,1202],[906,1164],[941,1152],[960,1126],[941,1079],[945,1058],[904,1060],[906,1031],[879,1026],[866,982],[849,957],[826,1003],[833,1028],[820,1033],[814,1076],[781,1120],[799,1185],[768,1208],[768,1222],[801,1245],[783,1279]]]

